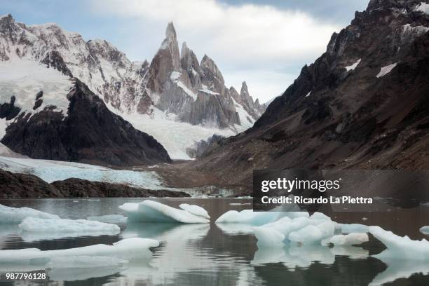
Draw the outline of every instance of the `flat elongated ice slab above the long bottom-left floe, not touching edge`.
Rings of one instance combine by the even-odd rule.
[[[116,224],[88,221],[86,219],[38,219],[26,217],[19,225],[23,232],[32,233],[109,233],[121,231]]]

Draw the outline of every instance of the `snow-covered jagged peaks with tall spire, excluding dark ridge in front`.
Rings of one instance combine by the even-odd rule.
[[[186,149],[214,134],[242,132],[264,112],[245,82],[240,93],[226,88],[210,57],[198,62],[186,43],[179,51],[172,23],[149,63],[131,62],[107,41],[85,41],[53,23],[25,25],[6,15],[0,18],[0,64],[0,104],[14,95],[20,112],[34,114],[48,107],[33,110],[34,97],[42,90],[41,104],[50,97],[52,106],[65,111],[69,79],[76,78],[110,111],[154,136],[172,158],[189,158]],[[1,126],[13,120],[0,118],[0,139],[5,133]]]

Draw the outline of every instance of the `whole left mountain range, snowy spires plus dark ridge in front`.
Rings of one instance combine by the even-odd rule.
[[[0,18],[0,139],[32,158],[108,165],[188,159],[199,142],[250,128],[265,106],[226,88],[168,24],[151,62],[56,24]],[[167,154],[167,152],[168,154]],[[192,155],[191,155],[192,156]]]

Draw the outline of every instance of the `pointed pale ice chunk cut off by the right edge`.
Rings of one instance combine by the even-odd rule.
[[[387,247],[387,250],[374,255],[378,259],[429,260],[428,240],[411,240],[408,236],[397,236],[380,226],[369,226],[369,232]]]

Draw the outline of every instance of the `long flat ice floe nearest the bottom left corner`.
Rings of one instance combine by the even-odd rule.
[[[157,247],[157,240],[148,238],[128,238],[113,245],[90,245],[66,250],[45,250],[26,248],[21,250],[0,250],[0,264],[43,264],[53,257],[116,257],[119,259],[147,259],[152,252],[149,247]]]

